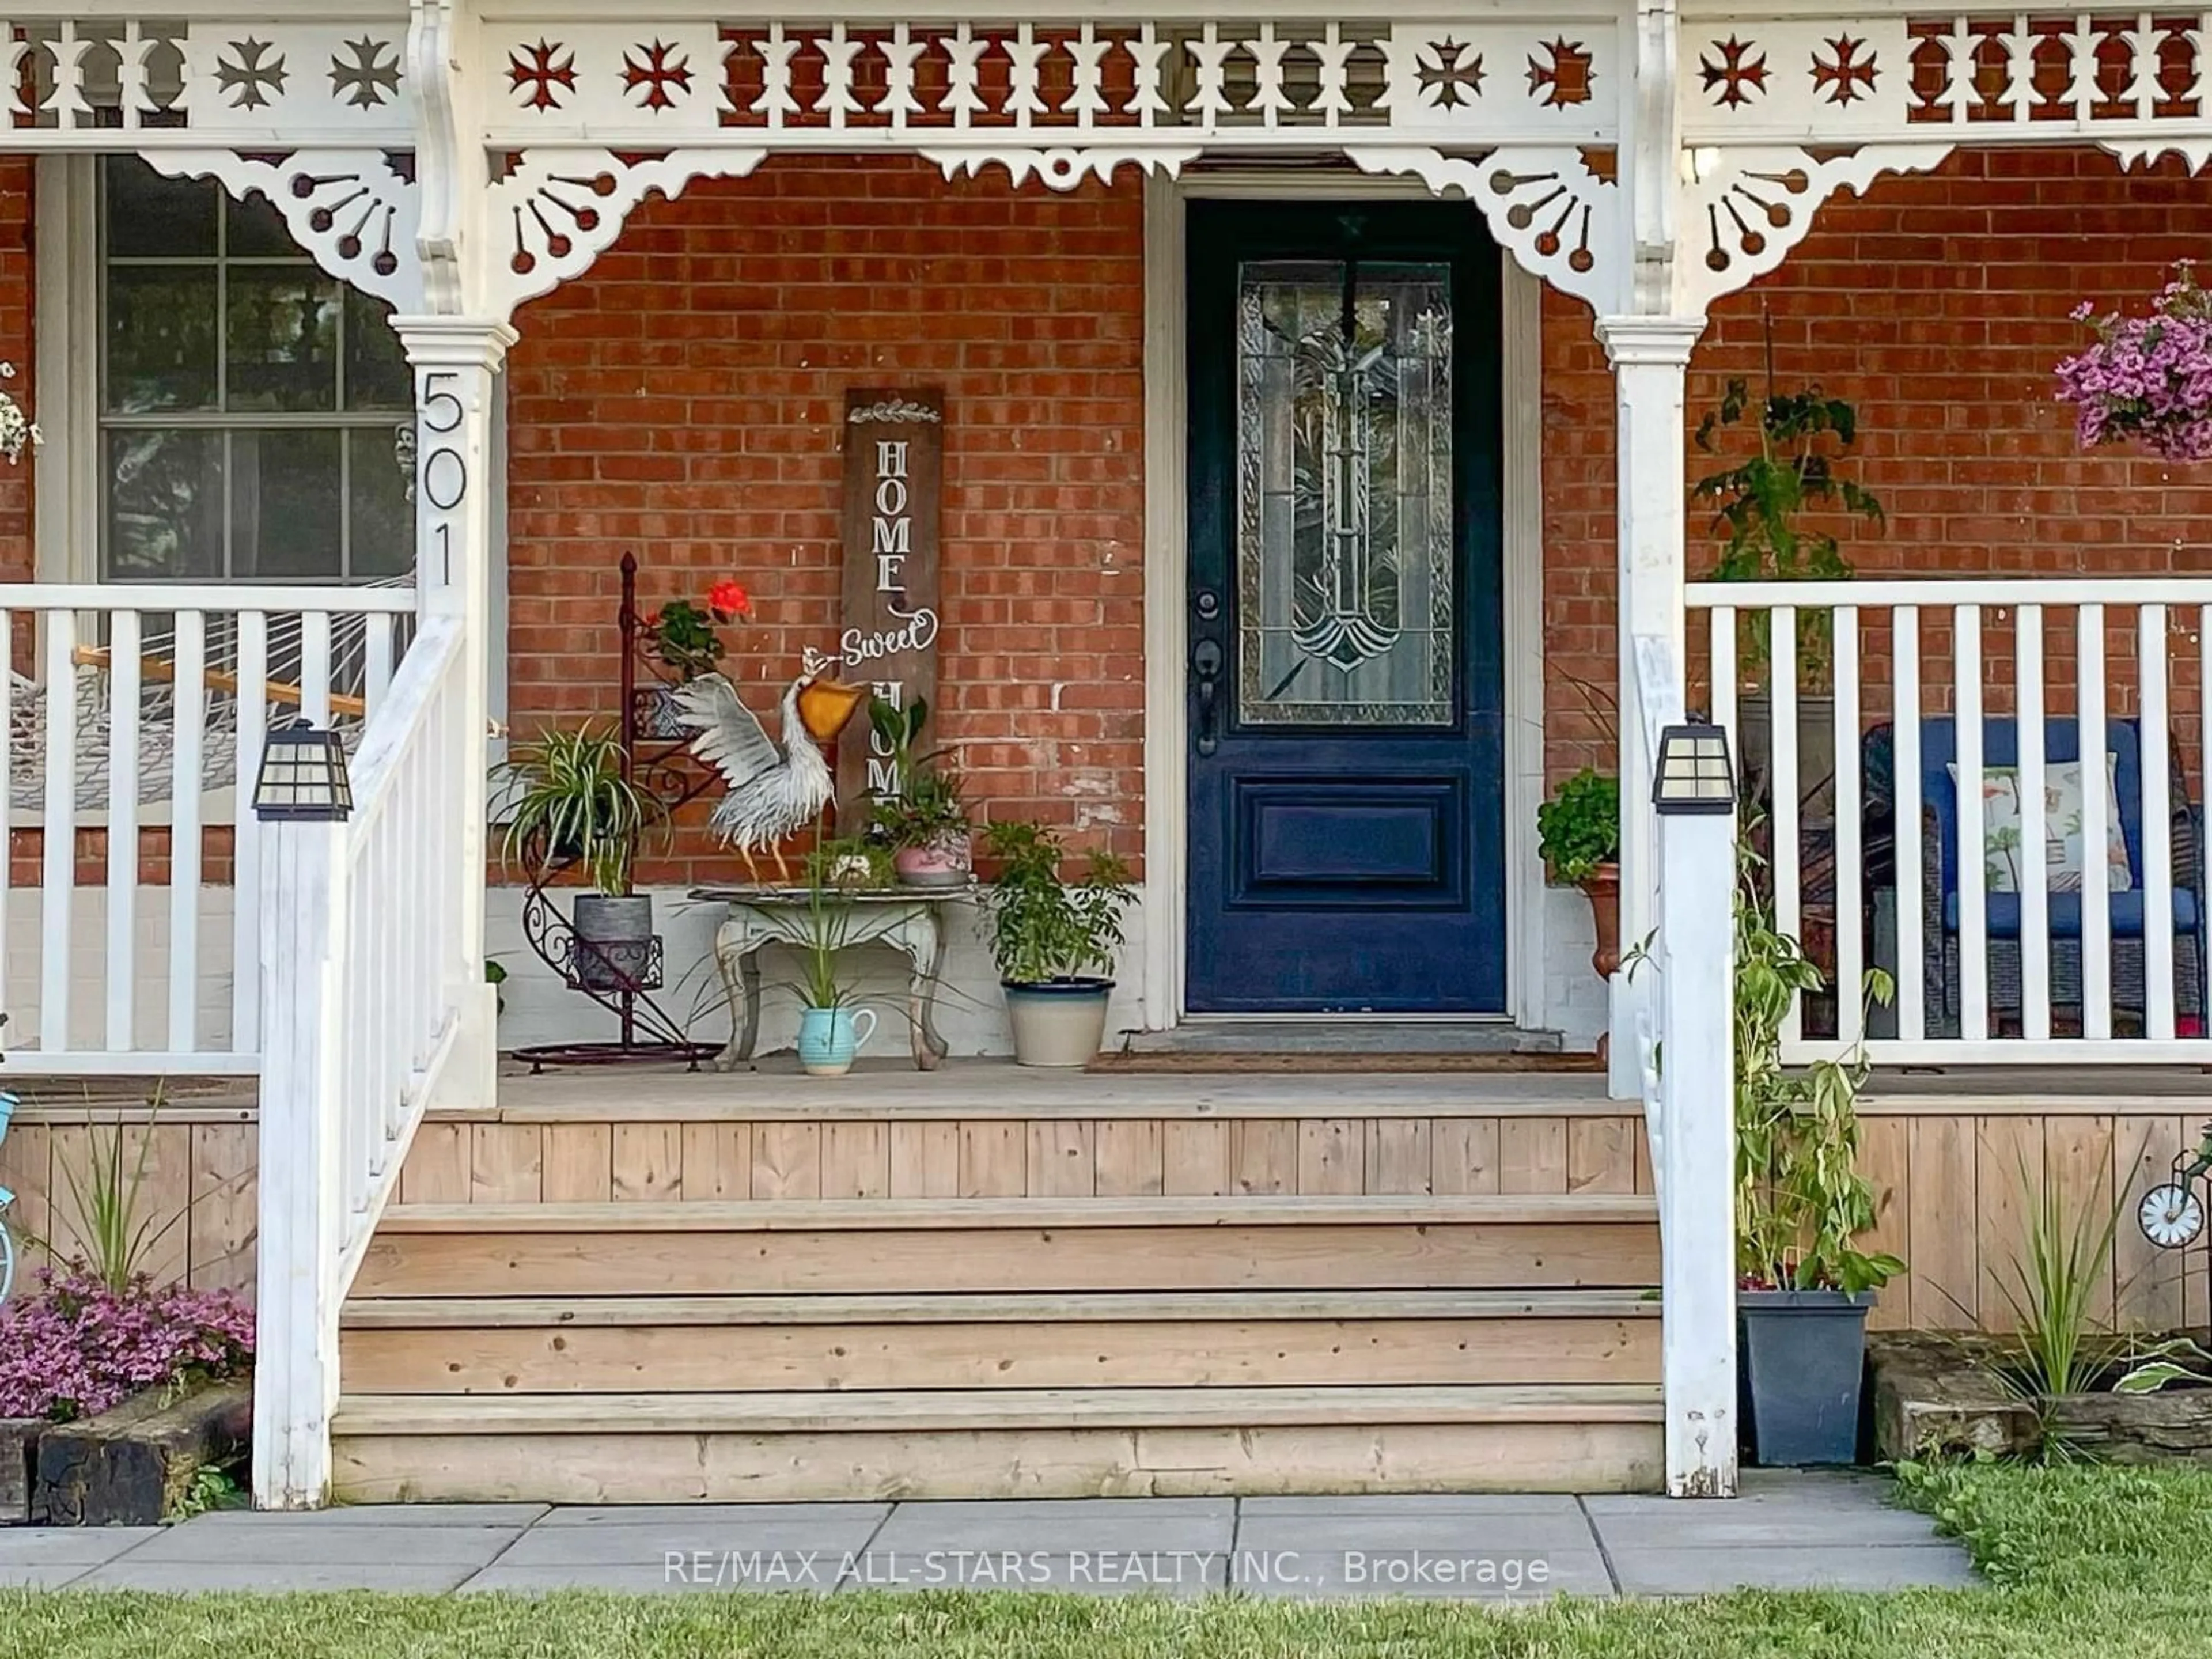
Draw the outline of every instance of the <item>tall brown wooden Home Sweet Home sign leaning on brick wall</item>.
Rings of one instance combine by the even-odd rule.
[[[945,394],[845,394],[845,628],[838,672],[894,708],[938,697],[938,531],[945,500]],[[843,827],[898,790],[896,761],[869,721],[838,745]]]

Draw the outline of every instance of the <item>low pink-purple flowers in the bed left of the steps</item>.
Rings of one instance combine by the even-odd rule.
[[[237,1376],[252,1365],[254,1314],[228,1290],[113,1292],[91,1272],[42,1274],[0,1307],[0,1418],[69,1422],[150,1387]]]

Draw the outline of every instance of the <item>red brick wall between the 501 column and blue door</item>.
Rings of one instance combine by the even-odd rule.
[[[938,741],[971,807],[1137,858],[1144,796],[1141,190],[770,161],[648,201],[509,361],[513,728],[613,714],[617,560],[646,608],[737,575],[772,708],[838,626],[849,385],[947,396]],[[644,880],[710,880],[697,834]]]

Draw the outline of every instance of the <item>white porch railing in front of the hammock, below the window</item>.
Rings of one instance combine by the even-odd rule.
[[[239,796],[272,719],[361,730],[414,608],[389,586],[0,586],[0,812],[11,845],[42,832],[35,900],[0,858],[11,1073],[259,1066],[261,834]],[[210,825],[230,825],[228,880],[204,856]],[[142,865],[155,827],[166,880]],[[80,869],[84,830],[106,832],[104,869]]]

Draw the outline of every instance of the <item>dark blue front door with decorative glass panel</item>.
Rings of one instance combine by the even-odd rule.
[[[1502,1011],[1498,248],[1188,212],[1188,1006]]]

